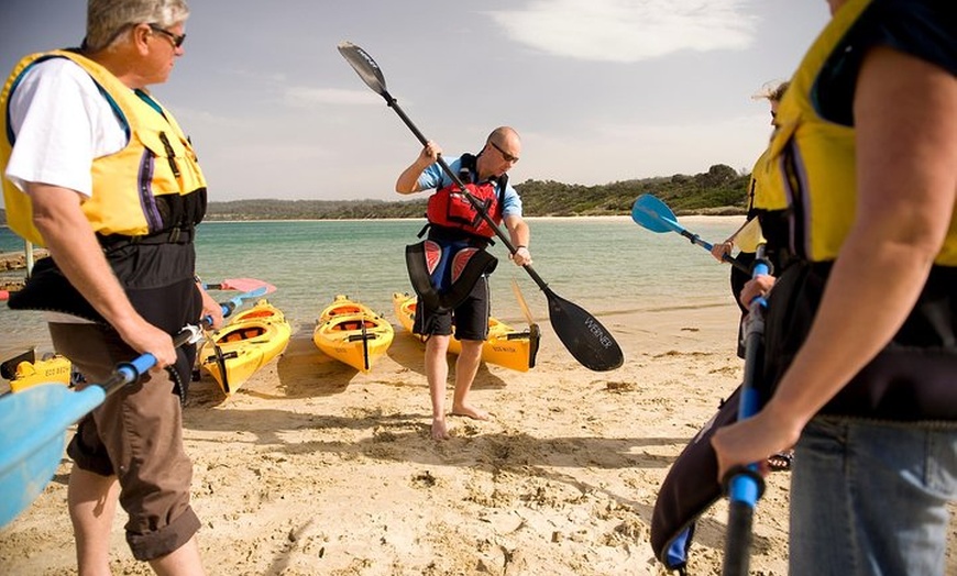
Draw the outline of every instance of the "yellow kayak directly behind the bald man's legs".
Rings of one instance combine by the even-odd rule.
[[[411,334],[416,318],[416,297],[406,292],[394,292],[392,301],[399,323]],[[419,340],[426,340],[418,334],[414,335]],[[488,337],[482,345],[482,359],[487,364],[528,372],[535,367],[540,337],[538,324],[531,324],[528,330],[519,332],[495,318],[490,318]],[[454,337],[450,339],[449,352],[459,354],[461,351],[462,344]]]

